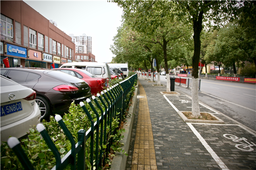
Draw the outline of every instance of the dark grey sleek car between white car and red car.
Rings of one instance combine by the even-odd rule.
[[[1,68],[1,75],[33,89],[41,120],[50,115],[68,113],[70,104],[79,104],[90,98],[90,86],[80,78],[67,73],[41,68]]]

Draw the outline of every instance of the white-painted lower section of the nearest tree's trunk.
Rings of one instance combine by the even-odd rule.
[[[201,116],[198,99],[198,78],[192,78],[192,115],[195,117]]]

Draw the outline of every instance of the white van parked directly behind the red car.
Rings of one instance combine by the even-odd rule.
[[[65,63],[60,66],[60,68],[80,68],[84,69],[88,72],[95,74],[97,77],[108,78],[111,81],[111,74],[106,63],[98,63],[98,62],[72,62]]]

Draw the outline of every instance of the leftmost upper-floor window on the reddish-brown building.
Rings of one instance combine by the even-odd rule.
[[[1,14],[1,39],[13,40],[13,20]]]

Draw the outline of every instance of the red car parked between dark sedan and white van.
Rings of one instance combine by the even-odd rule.
[[[72,76],[84,80],[91,87],[91,93],[96,96],[97,93],[103,91],[104,87],[108,88],[107,78],[99,78],[94,74],[79,68],[55,68],[52,70],[58,70],[61,72],[66,72]]]

